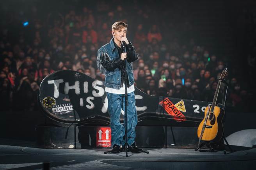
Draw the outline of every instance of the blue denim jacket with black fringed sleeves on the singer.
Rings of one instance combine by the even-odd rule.
[[[105,75],[105,87],[120,89],[121,65],[124,61],[119,57],[113,41],[114,39],[111,39],[108,44],[105,44],[98,50],[97,66],[100,72]],[[138,54],[136,53],[131,42],[126,45],[126,50],[126,70],[130,87],[134,84],[132,62],[138,59]]]

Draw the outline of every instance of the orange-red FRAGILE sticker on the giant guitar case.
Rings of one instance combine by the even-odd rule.
[[[177,109],[177,107],[169,100],[165,98],[159,104],[164,108],[164,110],[173,117],[177,122],[186,121],[186,117]]]

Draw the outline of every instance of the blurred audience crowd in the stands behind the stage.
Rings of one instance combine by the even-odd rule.
[[[2,11],[0,109],[38,110],[40,83],[57,70],[76,70],[103,81],[104,75],[96,67],[97,50],[112,39],[111,26],[121,20],[128,23],[127,38],[139,53],[133,69],[135,86],[141,91],[212,102],[220,73],[228,67],[226,106],[232,111],[252,111],[255,81],[248,84],[240,74],[243,67],[239,62],[233,56],[216,55],[197,42],[193,25],[172,15],[178,10],[164,10],[163,5],[163,12],[158,14],[152,7],[133,1],[128,10],[113,0],[98,1],[94,7],[66,7],[59,12],[46,10],[46,5],[32,5],[12,14],[5,14],[8,9]],[[27,26],[23,25],[26,15]],[[253,43],[252,53],[244,58],[248,61],[245,67],[255,72]],[[219,103],[224,102],[225,87],[220,86]]]

